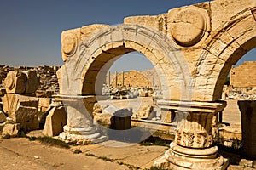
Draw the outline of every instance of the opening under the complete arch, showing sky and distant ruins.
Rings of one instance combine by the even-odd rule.
[[[155,131],[152,127],[150,130],[142,127],[144,121],[160,121],[160,109],[157,108],[154,100],[154,92],[160,92],[160,80],[159,75],[154,70],[154,65],[143,54],[133,51],[114,56],[114,54],[121,54],[118,52],[123,49],[115,49],[116,52],[112,49],[113,57],[98,71],[94,81],[96,105],[93,117],[96,125],[104,129],[110,139],[132,140],[137,143],[148,138]],[[123,50],[123,53],[125,52],[127,50]],[[143,63],[131,63],[133,64],[131,65],[129,59],[133,62],[137,59],[137,62],[143,61]],[[120,63],[122,61],[123,63]],[[145,61],[148,65],[146,69],[150,70],[144,69]],[[115,70],[117,68],[116,63],[125,66],[122,69],[118,68],[117,71]],[[88,77],[85,77],[84,80],[88,80]],[[112,112],[109,112],[110,110]],[[124,116],[115,116],[116,113],[120,114],[122,111]],[[126,111],[131,111],[132,115],[129,115],[130,117],[125,116],[128,114]],[[125,130],[125,132],[119,133],[116,130]]]

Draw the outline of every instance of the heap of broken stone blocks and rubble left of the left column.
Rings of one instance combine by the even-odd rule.
[[[0,103],[2,136],[7,134],[17,136],[21,130],[25,132],[36,130],[44,127],[45,122],[47,126],[44,131],[47,134],[61,133],[67,120],[66,112],[63,107],[56,108],[51,105],[52,98],[50,98],[52,94],[58,93],[58,82],[55,76],[57,67],[14,69],[0,66],[0,68],[2,68],[0,69],[2,88],[4,87],[0,91],[3,92]],[[38,95],[38,88],[44,93]]]

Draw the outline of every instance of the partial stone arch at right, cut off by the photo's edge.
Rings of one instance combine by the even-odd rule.
[[[205,101],[221,99],[224,81],[232,65],[255,47],[255,8],[247,8],[207,38],[193,72],[195,95]]]

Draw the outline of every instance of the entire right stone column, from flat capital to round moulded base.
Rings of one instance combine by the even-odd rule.
[[[226,169],[228,162],[212,146],[212,118],[226,103],[158,101],[161,109],[175,111],[177,133],[155,167],[170,169]]]

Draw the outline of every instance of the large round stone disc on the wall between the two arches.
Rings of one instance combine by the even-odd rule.
[[[171,27],[172,37],[182,46],[192,46],[201,40],[206,29],[204,17],[193,9],[177,14]]]

